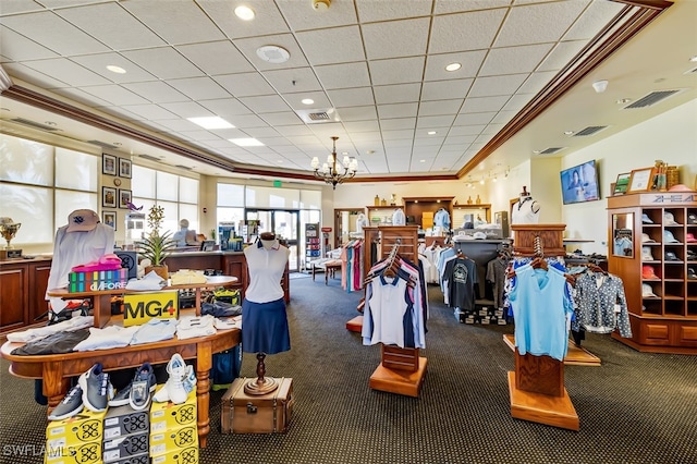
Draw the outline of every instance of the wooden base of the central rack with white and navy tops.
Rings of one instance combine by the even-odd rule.
[[[425,357],[418,349],[382,346],[382,362],[370,376],[370,388],[389,393],[418,396],[426,376]]]

